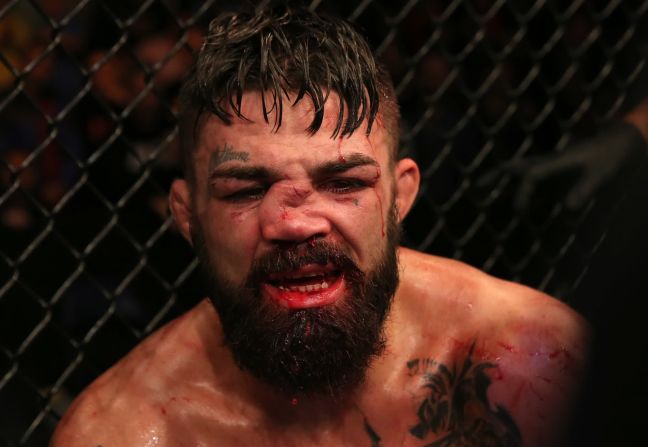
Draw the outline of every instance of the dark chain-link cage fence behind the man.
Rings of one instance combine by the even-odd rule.
[[[166,208],[175,97],[210,18],[238,6],[0,1],[0,444],[45,445],[80,390],[201,298]],[[515,178],[476,179],[640,99],[648,1],[311,7],[356,22],[393,76],[423,173],[407,245],[574,305],[605,231],[596,203],[567,212],[556,186],[522,213]]]

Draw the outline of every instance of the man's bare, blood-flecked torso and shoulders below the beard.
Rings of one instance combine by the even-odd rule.
[[[293,399],[242,372],[205,300],[96,380],[52,445],[558,445],[585,366],[583,320],[456,261],[399,259],[387,349],[353,395]]]

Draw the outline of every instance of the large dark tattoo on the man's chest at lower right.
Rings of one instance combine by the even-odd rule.
[[[423,376],[421,389],[425,397],[418,411],[418,423],[410,434],[424,440],[430,434],[438,437],[428,447],[519,447],[520,430],[510,413],[493,405],[487,396],[491,380],[486,374],[497,365],[474,362],[473,341],[463,362],[452,366],[434,359],[407,362],[410,376]]]

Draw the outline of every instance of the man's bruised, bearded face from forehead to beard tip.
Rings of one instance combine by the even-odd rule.
[[[192,239],[238,364],[291,393],[362,379],[384,345],[397,282],[394,165],[380,120],[332,139],[336,98],[314,135],[308,101],[265,122],[206,119],[195,154]],[[270,123],[273,122],[270,116]]]

